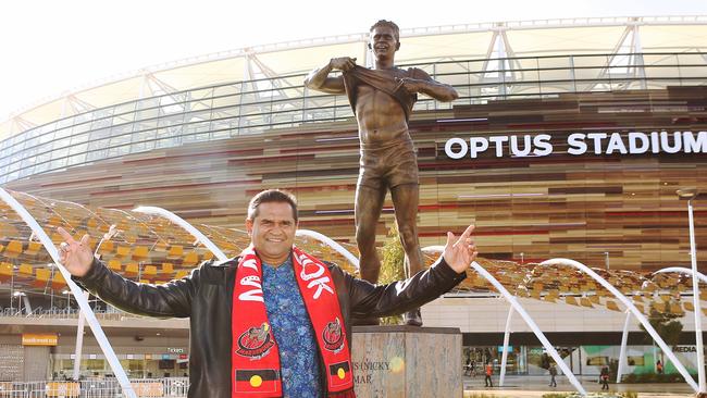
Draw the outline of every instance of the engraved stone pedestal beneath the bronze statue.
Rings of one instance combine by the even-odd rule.
[[[462,396],[458,328],[355,326],[352,332],[357,398]]]

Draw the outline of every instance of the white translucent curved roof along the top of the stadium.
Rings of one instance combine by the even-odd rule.
[[[401,30],[398,64],[630,52],[705,52],[707,15],[521,21]],[[230,82],[301,74],[332,57],[369,64],[368,33],[256,46],[168,62],[75,88],[0,124],[0,139],[126,101]],[[707,60],[705,60],[707,62]]]

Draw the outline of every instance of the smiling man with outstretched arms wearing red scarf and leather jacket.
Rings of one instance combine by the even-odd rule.
[[[125,311],[190,320],[188,397],[354,397],[350,319],[389,316],[458,285],[476,257],[473,226],[447,233],[430,270],[389,285],[355,278],[294,246],[297,202],[270,189],[248,206],[251,244],[164,285],[139,284],[94,258],[89,237],[59,228],[61,262],[85,289]]]

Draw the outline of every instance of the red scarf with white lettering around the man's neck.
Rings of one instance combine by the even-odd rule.
[[[332,275],[293,247],[293,266],[326,372],[328,397],[355,397],[351,356]],[[262,296],[262,264],[252,246],[240,258],[233,291],[232,397],[282,397],[280,352]]]

